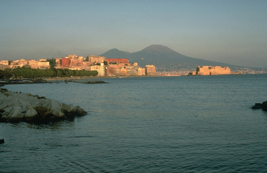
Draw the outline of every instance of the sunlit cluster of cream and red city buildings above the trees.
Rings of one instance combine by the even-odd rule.
[[[138,63],[129,63],[128,59],[107,59],[104,56],[90,55],[87,57],[68,55],[63,58],[36,60],[0,61],[0,70],[7,68],[28,67],[33,69],[56,69],[97,71],[97,76],[142,76],[156,75],[153,65],[139,67]]]

